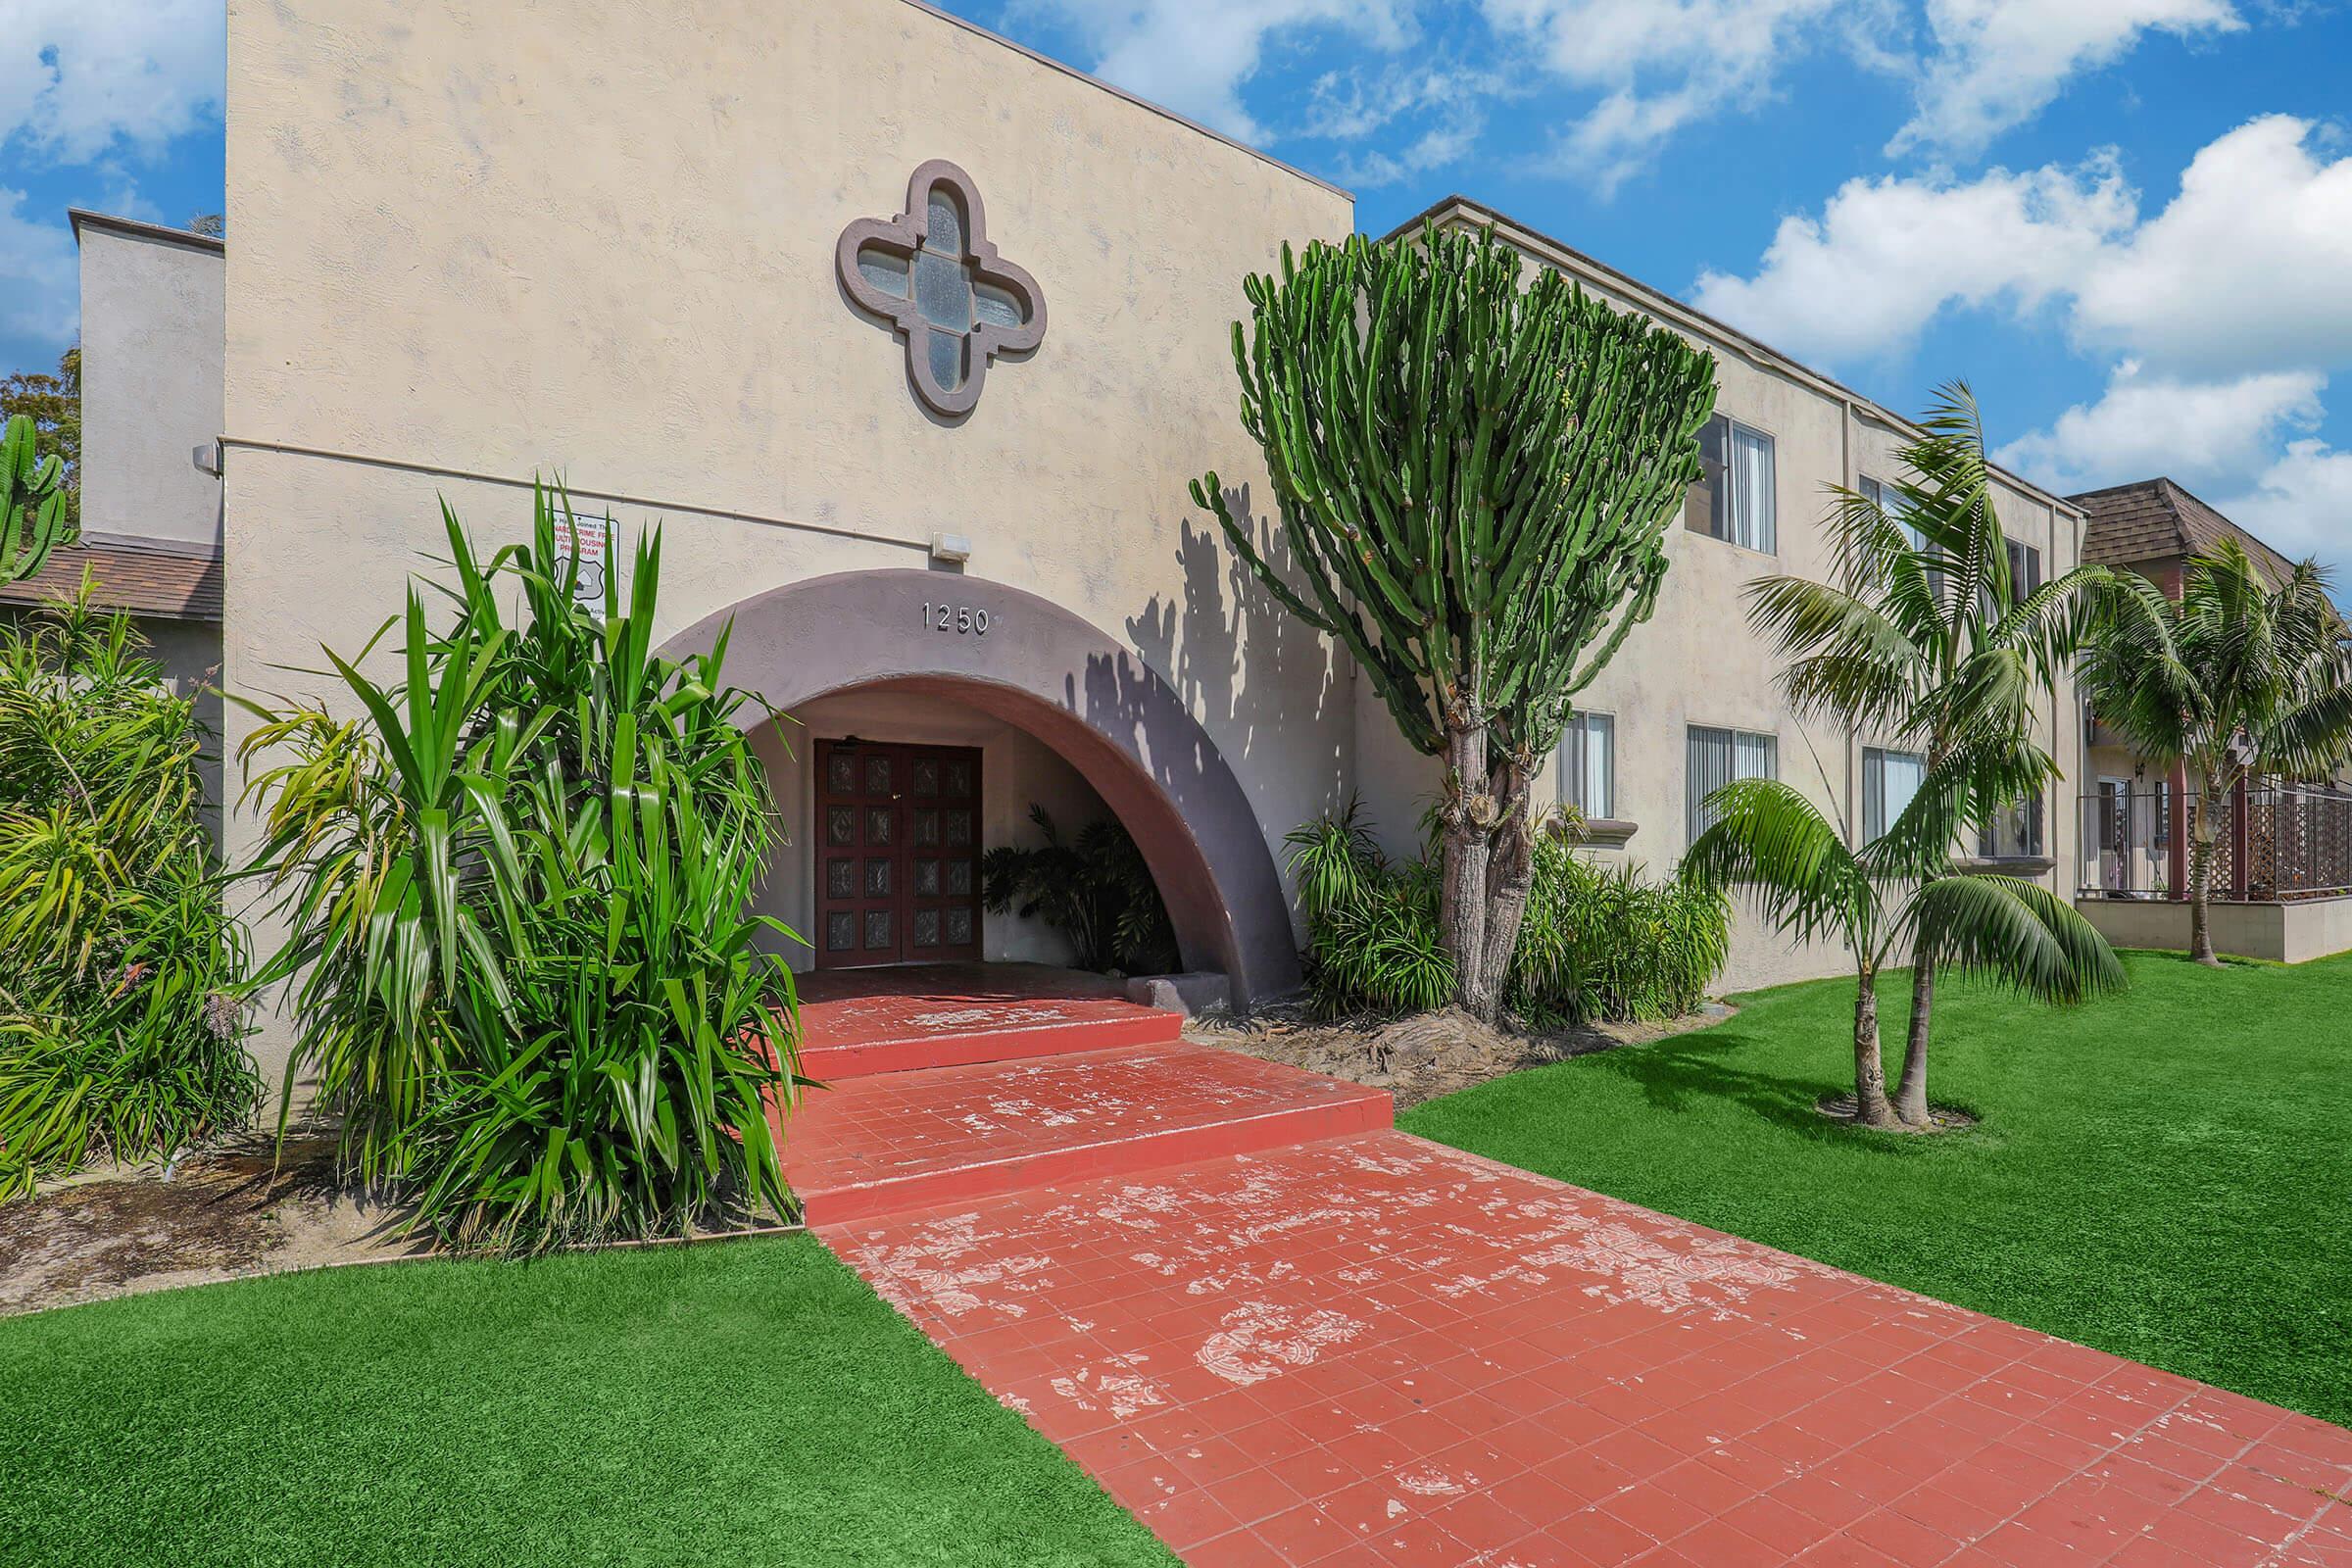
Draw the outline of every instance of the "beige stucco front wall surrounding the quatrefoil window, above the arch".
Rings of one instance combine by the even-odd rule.
[[[842,226],[896,214],[929,158],[971,174],[1049,310],[960,425],[833,275]],[[233,0],[228,679],[355,646],[437,548],[437,494],[485,536],[527,527],[522,491],[447,470],[560,468],[668,522],[666,628],[969,536],[974,576],[1160,670],[1279,842],[1341,797],[1345,675],[1237,588],[1185,482],[1261,473],[1242,275],[1350,228],[1345,195],[903,0],[691,26]]]

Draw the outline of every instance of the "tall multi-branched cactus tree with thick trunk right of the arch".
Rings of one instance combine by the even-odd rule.
[[[1232,327],[1294,583],[1209,473],[1192,501],[1444,757],[1442,926],[1491,1020],[1534,870],[1529,785],[1573,696],[1649,618],[1698,480],[1715,362],[1484,233],[1312,244]]]

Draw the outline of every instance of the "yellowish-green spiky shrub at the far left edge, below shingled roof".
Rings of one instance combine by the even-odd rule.
[[[195,705],[92,581],[0,625],[0,1199],[254,1114]]]

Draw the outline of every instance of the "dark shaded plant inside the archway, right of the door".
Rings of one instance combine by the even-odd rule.
[[[981,903],[1042,919],[1096,973],[1150,976],[1176,969],[1176,926],[1136,839],[1105,816],[1063,839],[1054,816],[1030,802],[1037,846],[1000,844],[981,856]]]

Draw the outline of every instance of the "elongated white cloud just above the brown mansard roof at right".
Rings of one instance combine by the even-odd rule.
[[[2098,402],[2074,404],[1994,456],[2058,494],[2159,473],[2192,489],[2237,482],[2277,451],[2281,433],[2319,423],[2326,383],[2319,371],[2173,381],[2126,360]]]

